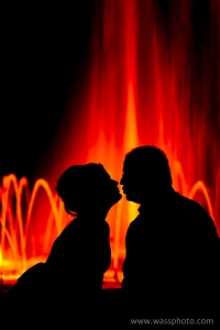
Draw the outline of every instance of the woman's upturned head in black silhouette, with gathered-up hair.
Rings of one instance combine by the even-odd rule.
[[[67,213],[76,216],[95,208],[113,206],[121,195],[118,182],[110,178],[101,164],[73,165],[57,179],[55,188]]]

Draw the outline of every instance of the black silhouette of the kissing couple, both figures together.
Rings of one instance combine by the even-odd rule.
[[[51,324],[59,317],[77,329],[92,321],[125,327],[136,317],[219,317],[217,228],[205,208],[175,191],[166,154],[152,145],[132,148],[120,185],[127,200],[140,205],[125,235],[121,288],[102,288],[111,264],[106,219],[122,198],[119,183],[100,163],[73,165],[55,188],[73,221],[46,261],[6,294],[6,310]]]

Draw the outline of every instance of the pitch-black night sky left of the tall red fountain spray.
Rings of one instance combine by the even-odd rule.
[[[89,56],[94,9],[92,0],[2,9],[0,178],[31,177],[53,143]]]

